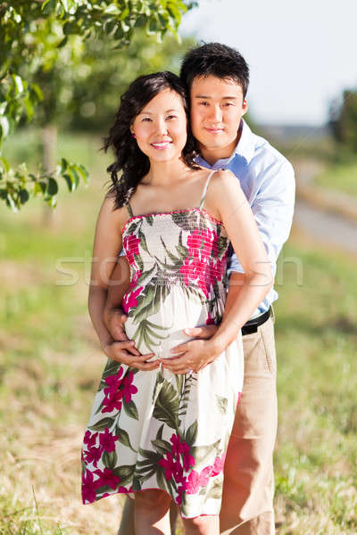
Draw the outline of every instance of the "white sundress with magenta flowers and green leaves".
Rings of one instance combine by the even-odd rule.
[[[211,177],[211,175],[210,175]],[[130,287],[122,307],[130,340],[161,358],[219,324],[226,300],[228,236],[199,207],[132,215],[123,229]],[[223,465],[243,384],[241,336],[194,374],[140,371],[108,359],[82,448],[82,498],[166,491],[183,517],[219,514]]]

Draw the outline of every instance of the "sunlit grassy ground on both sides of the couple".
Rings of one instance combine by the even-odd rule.
[[[71,143],[84,153],[82,140]],[[110,535],[119,524],[120,498],[79,501],[82,433],[104,366],[86,266],[106,177],[100,160],[91,165],[88,188],[63,191],[50,225],[40,202],[0,212],[1,535]],[[65,264],[76,284],[58,284],[68,280],[56,270],[65,257],[78,260]],[[277,290],[277,532],[353,535],[356,265],[296,237],[281,255]]]

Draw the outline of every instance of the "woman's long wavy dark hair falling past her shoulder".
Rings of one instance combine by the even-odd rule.
[[[112,178],[109,194],[115,195],[115,208],[126,204],[136,191],[137,185],[150,169],[150,161],[146,154],[137,146],[130,127],[145,105],[164,89],[171,89],[181,96],[187,114],[187,143],[182,150],[182,159],[191,169],[199,169],[195,164],[195,138],[189,128],[187,94],[178,76],[170,71],[155,72],[140,76],[129,86],[120,98],[119,110],[115,121],[109,130],[109,136],[104,138],[105,152],[110,147],[116,160],[107,169]],[[118,177],[118,172],[121,176]]]

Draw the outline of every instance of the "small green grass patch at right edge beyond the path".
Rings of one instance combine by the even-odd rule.
[[[316,184],[357,197],[357,162],[338,163],[315,179]]]

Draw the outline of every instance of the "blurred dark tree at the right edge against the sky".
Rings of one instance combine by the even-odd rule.
[[[350,152],[357,152],[357,90],[346,89],[342,103],[332,103],[329,115],[336,142]]]

